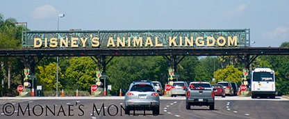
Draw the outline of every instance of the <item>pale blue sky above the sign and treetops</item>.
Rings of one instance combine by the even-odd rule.
[[[288,0],[5,0],[31,31],[250,29],[251,47],[289,42]],[[58,17],[58,14],[65,17]],[[58,24],[59,23],[59,24]]]

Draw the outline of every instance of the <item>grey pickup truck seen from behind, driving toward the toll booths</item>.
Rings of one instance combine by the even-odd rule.
[[[185,98],[185,109],[190,106],[210,106],[215,109],[215,89],[211,88],[209,82],[190,82],[189,90]]]

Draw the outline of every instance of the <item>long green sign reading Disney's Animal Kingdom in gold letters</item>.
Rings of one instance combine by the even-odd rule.
[[[26,31],[22,47],[247,47],[249,29],[140,31]]]

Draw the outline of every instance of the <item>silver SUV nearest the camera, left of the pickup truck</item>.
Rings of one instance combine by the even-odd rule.
[[[133,81],[124,97],[125,114],[130,111],[148,110],[160,114],[160,96],[151,81]]]

